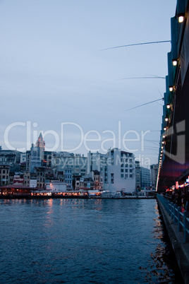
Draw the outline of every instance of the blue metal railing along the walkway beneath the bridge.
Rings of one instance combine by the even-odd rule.
[[[175,203],[170,202],[168,199],[165,199],[164,196],[157,194],[157,198],[161,204],[166,209],[173,223],[178,226],[178,232],[183,231],[184,233],[184,242],[189,242],[189,212],[184,211],[182,213],[181,206],[177,206]]]

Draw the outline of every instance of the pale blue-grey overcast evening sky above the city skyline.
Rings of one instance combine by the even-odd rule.
[[[0,0],[0,145],[157,163],[176,0]],[[105,50],[104,50],[105,49]],[[128,78],[135,79],[128,79]],[[149,105],[130,108],[159,100]],[[128,111],[127,111],[128,110]]]

